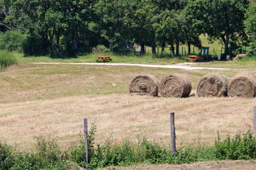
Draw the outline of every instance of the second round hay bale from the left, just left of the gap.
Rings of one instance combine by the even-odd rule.
[[[191,92],[191,82],[182,74],[169,75],[160,81],[159,92],[163,97],[188,97]]]

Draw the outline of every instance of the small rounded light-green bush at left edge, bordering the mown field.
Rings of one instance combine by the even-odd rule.
[[[9,51],[0,51],[0,65],[1,67],[17,64],[16,57]]]

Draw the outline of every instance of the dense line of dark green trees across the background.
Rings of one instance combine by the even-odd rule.
[[[1,0],[0,9],[0,49],[21,43],[16,50],[29,55],[77,54],[122,41],[139,44],[141,54],[145,46],[153,54],[168,46],[178,55],[181,44],[190,54],[191,45],[201,47],[201,34],[223,43],[225,54],[246,45],[255,51],[256,3],[249,0]]]

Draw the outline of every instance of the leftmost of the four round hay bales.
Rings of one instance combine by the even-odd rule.
[[[133,77],[129,84],[129,92],[131,95],[150,95],[156,97],[158,89],[158,80],[152,75],[137,75]]]

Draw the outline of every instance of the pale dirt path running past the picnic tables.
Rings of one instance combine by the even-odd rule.
[[[141,66],[141,67],[157,67],[157,68],[169,68],[169,69],[185,69],[185,70],[231,70],[223,68],[205,68],[205,67],[191,67],[196,63],[179,63],[173,65],[151,65],[151,64],[128,64],[128,63],[34,63],[34,64],[81,64],[81,65],[121,65],[121,66]]]

